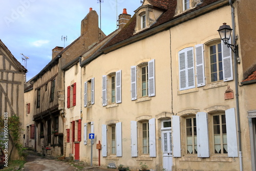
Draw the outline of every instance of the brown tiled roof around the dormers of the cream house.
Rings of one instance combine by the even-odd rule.
[[[177,7],[177,0],[147,0],[149,3],[151,3],[152,6],[155,6],[157,8],[165,8],[166,11],[163,12],[163,14],[157,19],[156,23],[154,23],[150,28],[144,29],[136,34],[134,34],[135,26],[136,26],[136,15],[134,14],[133,17],[130,19],[130,22],[126,24],[126,26],[120,31],[120,33],[113,38],[104,48],[111,47],[115,44],[118,44],[119,42],[122,42],[123,40],[130,39],[132,37],[136,37],[141,33],[144,33],[148,30],[152,30],[153,28],[156,28],[160,25],[163,25],[165,23],[168,23],[172,20],[175,20],[181,16],[187,15],[191,12],[194,12],[202,7],[206,7],[212,3],[220,2],[220,3],[226,3],[228,4],[228,1],[225,0],[204,0],[201,1],[201,4],[198,4],[195,8],[192,8],[184,13],[181,13],[179,15],[175,15],[176,7]],[[185,21],[185,20],[184,20]]]

